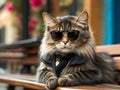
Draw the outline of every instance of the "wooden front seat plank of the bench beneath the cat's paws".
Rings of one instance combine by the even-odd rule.
[[[27,79],[28,78],[28,79]],[[31,89],[46,90],[45,85],[34,81],[35,77],[27,75],[0,75],[0,82],[10,85],[23,86]],[[31,79],[31,80],[30,80]],[[112,84],[101,84],[94,86],[72,86],[57,87],[56,90],[120,90],[120,86]]]

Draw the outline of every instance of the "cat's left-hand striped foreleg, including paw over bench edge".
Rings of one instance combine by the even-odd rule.
[[[41,63],[37,70],[37,81],[46,84],[48,90],[54,90],[58,86],[58,80],[51,67]]]

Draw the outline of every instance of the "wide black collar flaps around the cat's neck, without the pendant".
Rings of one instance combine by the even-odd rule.
[[[51,65],[52,61],[55,60],[56,58],[59,58],[60,61],[62,60],[67,60],[69,62],[69,66],[72,65],[81,65],[84,64],[86,62],[86,59],[82,56],[82,55],[77,55],[75,53],[70,53],[67,56],[63,57],[60,54],[56,54],[54,53],[53,55],[46,55],[44,57],[41,57],[41,61]]]

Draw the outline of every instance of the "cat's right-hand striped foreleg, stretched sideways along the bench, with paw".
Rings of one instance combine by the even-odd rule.
[[[77,85],[91,85],[100,83],[102,74],[99,71],[80,71],[73,74],[62,75],[58,79],[59,86],[77,86]]]

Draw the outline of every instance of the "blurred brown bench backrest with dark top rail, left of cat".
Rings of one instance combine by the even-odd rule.
[[[22,40],[13,44],[0,44],[0,62],[22,64],[22,73],[30,72],[31,65],[38,64],[38,48],[41,38]],[[10,67],[8,67],[9,69]]]

